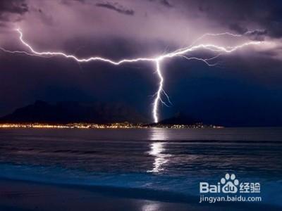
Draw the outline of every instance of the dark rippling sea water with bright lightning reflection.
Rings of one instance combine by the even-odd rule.
[[[282,207],[282,128],[0,129],[0,177],[199,196],[226,173]]]

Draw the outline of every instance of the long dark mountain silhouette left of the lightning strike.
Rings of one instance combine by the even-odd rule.
[[[145,117],[124,103],[47,103],[36,101],[32,105],[16,109],[0,118],[1,122],[149,122]]]

